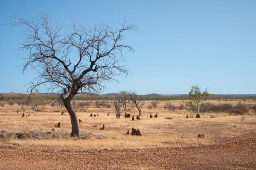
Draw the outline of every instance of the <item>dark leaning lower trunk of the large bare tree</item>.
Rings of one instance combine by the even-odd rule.
[[[67,109],[67,112],[70,115],[71,125],[72,125],[72,131],[70,136],[78,136],[79,137],[79,126],[78,121],[76,117],[76,111],[73,109],[70,101],[68,99],[65,99],[64,97],[61,97],[62,102]]]

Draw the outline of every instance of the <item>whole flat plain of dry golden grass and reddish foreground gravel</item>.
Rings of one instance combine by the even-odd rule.
[[[132,105],[116,119],[113,105],[96,108],[91,102],[77,111],[80,138],[70,137],[70,116],[61,106],[39,107],[37,117],[26,107],[22,117],[20,106],[4,105],[0,107],[0,169],[256,168],[253,109],[244,115],[210,112],[195,118],[196,113],[186,109],[186,100],[160,101],[157,108],[149,109],[150,102],[145,103],[140,120],[134,121],[131,117],[136,118],[138,111]],[[256,104],[253,100],[206,102]],[[176,108],[165,109],[166,103]],[[96,116],[90,117],[91,113]],[[131,117],[124,118],[125,113]],[[61,127],[55,127],[58,122]],[[103,124],[105,130],[100,130]],[[132,127],[142,136],[131,136]]]

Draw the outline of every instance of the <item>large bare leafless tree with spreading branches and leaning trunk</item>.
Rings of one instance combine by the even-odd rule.
[[[103,81],[117,81],[115,76],[127,75],[127,68],[122,65],[122,52],[133,51],[133,48],[123,44],[123,34],[136,26],[128,25],[124,20],[115,29],[103,23],[87,28],[74,21],[68,34],[45,13],[37,20],[15,19],[12,25],[26,27],[21,50],[29,51],[29,56],[23,72],[28,66],[38,71],[29,90],[43,84],[47,85],[48,91],[58,90],[70,115],[71,136],[79,136],[71,99],[80,91],[99,92],[104,88]]]

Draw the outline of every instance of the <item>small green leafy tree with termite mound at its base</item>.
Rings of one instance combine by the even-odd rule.
[[[199,110],[200,110],[201,102],[203,99],[207,99],[208,96],[209,94],[208,94],[207,88],[203,93],[201,93],[201,89],[198,87],[198,85],[192,85],[191,90],[189,91],[189,98],[192,99],[192,102],[196,105],[197,118],[200,117]]]

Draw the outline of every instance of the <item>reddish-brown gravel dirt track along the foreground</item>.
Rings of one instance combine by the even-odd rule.
[[[255,170],[256,134],[197,147],[79,150],[0,146],[0,169]]]

